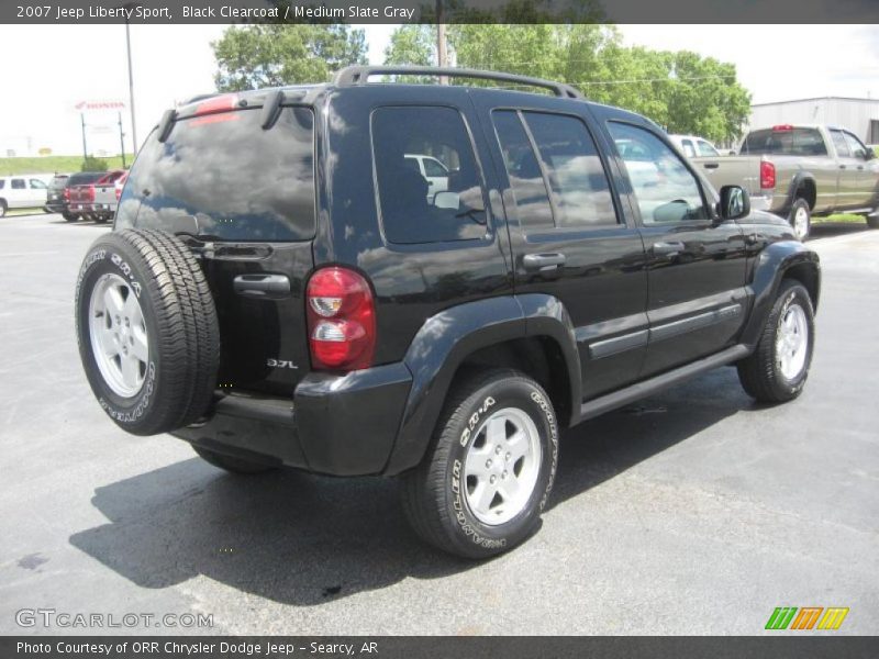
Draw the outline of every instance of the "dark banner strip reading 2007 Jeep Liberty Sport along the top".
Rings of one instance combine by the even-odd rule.
[[[877,0],[7,0],[0,23],[877,23]],[[743,41],[743,47],[746,47]]]

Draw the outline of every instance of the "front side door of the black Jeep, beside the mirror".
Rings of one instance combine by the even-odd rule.
[[[734,343],[748,304],[744,235],[735,222],[716,217],[713,193],[657,132],[607,125],[627,171],[648,259],[645,377]]]

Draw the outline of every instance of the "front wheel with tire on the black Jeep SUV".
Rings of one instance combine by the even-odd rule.
[[[745,391],[763,403],[783,403],[802,393],[815,342],[809,291],[795,280],[781,282],[757,349],[738,362]]]

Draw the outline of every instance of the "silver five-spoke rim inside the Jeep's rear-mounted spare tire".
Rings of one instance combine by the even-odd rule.
[[[119,275],[102,275],[89,300],[89,337],[104,382],[122,398],[141,391],[149,359],[137,295]]]

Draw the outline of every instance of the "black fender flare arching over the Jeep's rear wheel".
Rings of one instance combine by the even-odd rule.
[[[403,362],[412,386],[386,474],[421,461],[455,380],[480,366],[522,370],[547,391],[560,427],[579,420],[582,388],[574,326],[552,295],[507,295],[444,310],[422,325]]]

